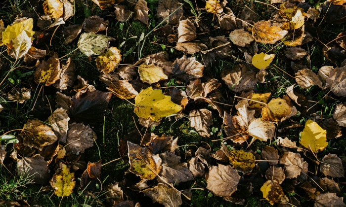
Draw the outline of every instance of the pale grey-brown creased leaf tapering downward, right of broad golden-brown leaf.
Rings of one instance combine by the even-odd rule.
[[[65,143],[67,138],[68,122],[70,117],[66,113],[66,109],[57,108],[48,117],[47,124],[51,125],[54,134],[59,138],[59,141]]]

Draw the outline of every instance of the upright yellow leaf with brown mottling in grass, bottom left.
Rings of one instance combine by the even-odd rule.
[[[74,179],[75,173],[70,173],[67,165],[60,163],[60,172],[55,173],[50,180],[50,185],[55,189],[55,195],[59,197],[70,196],[76,185]]]

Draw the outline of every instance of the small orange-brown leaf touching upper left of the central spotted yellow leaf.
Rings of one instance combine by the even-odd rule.
[[[109,91],[121,99],[132,99],[138,95],[128,80],[113,80]]]

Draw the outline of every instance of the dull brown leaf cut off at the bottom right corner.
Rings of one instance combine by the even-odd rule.
[[[316,197],[313,207],[346,207],[343,197],[338,197],[336,193],[320,193]]]

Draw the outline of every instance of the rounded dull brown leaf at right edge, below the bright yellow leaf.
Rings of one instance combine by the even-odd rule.
[[[321,173],[331,177],[345,177],[342,160],[336,154],[328,154],[323,157],[320,164]]]

